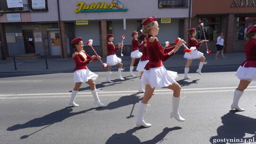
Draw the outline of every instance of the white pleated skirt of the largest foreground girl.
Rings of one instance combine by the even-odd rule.
[[[177,72],[167,71],[164,66],[160,66],[145,70],[141,82],[149,84],[152,89],[155,87],[164,88],[172,85],[176,78],[178,78]]]

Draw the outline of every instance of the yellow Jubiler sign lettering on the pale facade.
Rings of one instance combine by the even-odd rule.
[[[79,12],[108,12],[108,11],[127,11],[128,9],[123,9],[123,4],[119,0],[112,0],[112,3],[98,2],[94,3],[85,3],[85,2],[77,2],[75,13]],[[117,8],[117,9],[113,9]]]

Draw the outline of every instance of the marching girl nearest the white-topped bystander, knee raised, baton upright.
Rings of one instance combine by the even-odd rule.
[[[198,42],[195,39],[195,36],[196,36],[196,29],[195,28],[189,29],[189,34],[190,34],[189,47],[193,47],[192,49],[194,49],[194,50],[192,50],[190,53],[185,53],[184,54],[184,58],[187,59],[187,63],[185,65],[185,69],[184,69],[184,74],[185,74],[184,79],[191,79],[188,76],[188,72],[189,72],[189,66],[191,65],[193,59],[199,59],[200,60],[200,63],[199,63],[199,66],[198,66],[198,69],[196,70],[196,72],[198,72],[200,75],[202,75],[201,69],[202,69],[202,66],[204,64],[205,57],[203,56],[203,53],[201,53],[197,50],[197,48],[203,42],[208,42],[208,40],[201,40],[200,42]]]

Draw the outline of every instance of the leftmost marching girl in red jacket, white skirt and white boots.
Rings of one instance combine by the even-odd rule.
[[[75,86],[71,92],[71,98],[68,104],[73,107],[79,106],[74,102],[74,99],[78,89],[81,87],[82,83],[85,82],[91,87],[91,94],[94,97],[94,104],[95,105],[97,104],[100,107],[104,106],[104,104],[101,103],[98,97],[97,89],[94,82],[94,80],[98,78],[98,75],[95,74],[94,72],[91,72],[86,66],[88,63],[91,63],[92,61],[101,59],[101,56],[95,56],[95,55],[90,56],[86,54],[85,51],[83,50],[84,45],[81,37],[73,39],[71,43],[74,49],[72,58],[75,62],[75,68],[73,70],[74,72],[73,81],[75,82]]]

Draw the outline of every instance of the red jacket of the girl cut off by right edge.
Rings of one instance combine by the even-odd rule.
[[[244,67],[256,67],[256,39],[250,38],[245,44],[246,60],[241,64]]]

